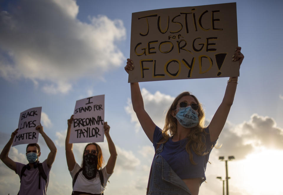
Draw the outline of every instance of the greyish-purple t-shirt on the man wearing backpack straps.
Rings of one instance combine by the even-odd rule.
[[[16,174],[21,176],[22,168],[25,166],[25,164],[16,162]],[[24,174],[26,176],[22,176],[21,186],[19,195],[46,195],[46,190],[48,186],[49,181],[49,172],[50,168],[48,168],[46,164],[46,160],[42,163],[43,170],[47,176],[47,182],[45,182],[45,179],[42,177],[40,178],[40,189],[38,189],[38,182],[39,182],[39,170],[38,168],[31,167],[30,170],[24,171]]]

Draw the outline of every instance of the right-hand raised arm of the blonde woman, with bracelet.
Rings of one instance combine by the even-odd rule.
[[[232,56],[232,61],[239,61],[239,66],[241,65],[244,56],[241,53],[241,47],[236,48],[235,54]],[[218,107],[217,111],[215,112],[211,122],[209,124],[209,133],[210,133],[210,140],[215,141],[218,139],[228,117],[230,108],[234,101],[234,96],[236,93],[236,87],[238,84],[238,77],[230,77],[226,91],[223,97],[223,101]]]

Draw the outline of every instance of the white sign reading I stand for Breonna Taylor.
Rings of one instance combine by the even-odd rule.
[[[76,101],[69,143],[103,142],[104,95]]]

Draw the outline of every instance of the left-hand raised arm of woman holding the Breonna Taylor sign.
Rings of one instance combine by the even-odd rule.
[[[73,153],[73,144],[69,144],[69,140],[70,140],[70,129],[71,129],[71,125],[73,123],[74,120],[74,115],[71,116],[70,119],[68,119],[68,129],[67,129],[67,136],[66,136],[66,140],[65,140],[65,150],[66,150],[66,159],[67,159],[67,165],[68,165],[68,169],[69,171],[72,171],[74,169],[75,166],[75,156]]]

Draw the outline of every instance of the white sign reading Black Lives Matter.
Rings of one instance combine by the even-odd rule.
[[[12,146],[37,143],[39,132],[35,128],[40,125],[41,108],[31,108],[20,114],[19,130],[14,137]]]

